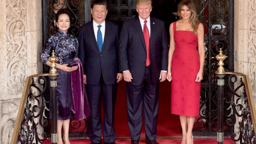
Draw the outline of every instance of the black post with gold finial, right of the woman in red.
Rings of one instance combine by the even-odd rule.
[[[218,62],[218,70],[215,72],[217,75],[217,85],[218,85],[218,131],[217,131],[217,142],[218,144],[223,144],[224,141],[224,133],[223,133],[223,123],[224,123],[224,76],[225,69],[223,67],[223,60],[226,59],[227,56],[222,54],[222,49],[220,49],[220,54],[216,56]]]

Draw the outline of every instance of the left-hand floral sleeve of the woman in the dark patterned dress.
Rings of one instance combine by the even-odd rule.
[[[43,64],[46,64],[46,62],[48,61],[48,58],[50,57],[51,54],[51,50],[53,48],[53,39],[52,37],[50,37],[46,42],[45,42],[45,46],[43,49],[43,52],[41,54],[41,61]]]

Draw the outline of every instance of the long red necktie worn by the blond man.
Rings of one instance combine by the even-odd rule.
[[[147,59],[146,59],[146,66],[149,66],[151,63],[150,60],[150,37],[149,37],[149,30],[147,27],[147,21],[144,21],[144,27],[143,27],[143,35],[144,35],[144,39],[145,39],[145,44],[146,44],[146,50],[147,50]]]

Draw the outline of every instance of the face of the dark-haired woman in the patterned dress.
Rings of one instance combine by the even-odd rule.
[[[58,22],[56,23],[56,25],[59,28],[59,30],[66,33],[69,29],[69,26],[70,26],[69,16],[67,14],[64,14],[64,13],[59,15]]]

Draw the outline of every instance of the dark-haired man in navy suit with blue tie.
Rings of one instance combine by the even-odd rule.
[[[114,105],[117,82],[123,74],[118,73],[118,26],[105,21],[107,3],[94,0],[91,4],[93,21],[80,27],[79,58],[83,64],[84,83],[92,115],[89,122],[91,144],[101,144],[101,99],[103,100],[104,144],[115,144]]]

